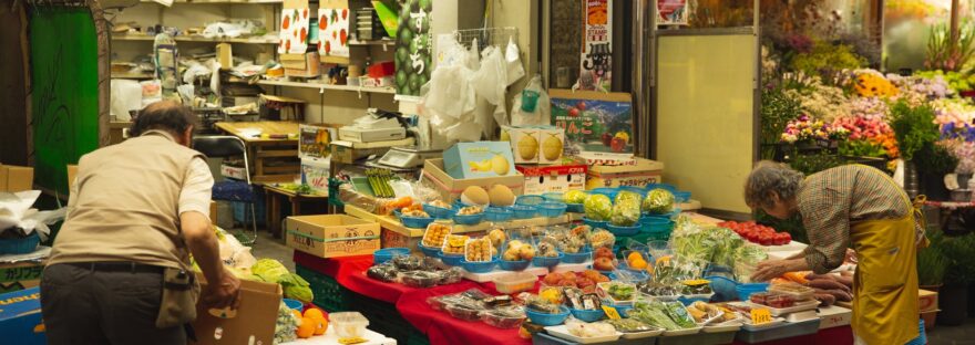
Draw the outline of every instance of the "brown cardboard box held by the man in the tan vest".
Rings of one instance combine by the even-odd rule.
[[[206,279],[196,274],[206,291]],[[240,307],[236,311],[196,309],[196,342],[189,344],[271,344],[281,303],[281,285],[240,280]]]

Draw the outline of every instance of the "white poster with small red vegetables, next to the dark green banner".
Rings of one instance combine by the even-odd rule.
[[[318,9],[318,54],[349,58],[348,1],[326,1]]]

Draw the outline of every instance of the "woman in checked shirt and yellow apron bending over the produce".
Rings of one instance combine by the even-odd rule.
[[[762,161],[748,176],[745,201],[779,219],[798,212],[809,236],[801,253],[759,263],[755,281],[793,271],[828,273],[852,245],[856,344],[905,344],[918,336],[916,245],[925,238],[920,213],[889,176],[848,165],[803,178],[786,165]]]

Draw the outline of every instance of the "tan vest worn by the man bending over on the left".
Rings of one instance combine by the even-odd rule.
[[[48,264],[134,261],[188,268],[179,233],[179,191],[189,161],[203,157],[146,134],[81,157],[78,198]]]

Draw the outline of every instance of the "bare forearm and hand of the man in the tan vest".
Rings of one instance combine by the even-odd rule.
[[[179,215],[179,226],[189,252],[206,276],[207,289],[203,302],[212,307],[237,307],[237,293],[240,281],[224,268],[217,237],[212,230],[209,219],[196,211]]]

